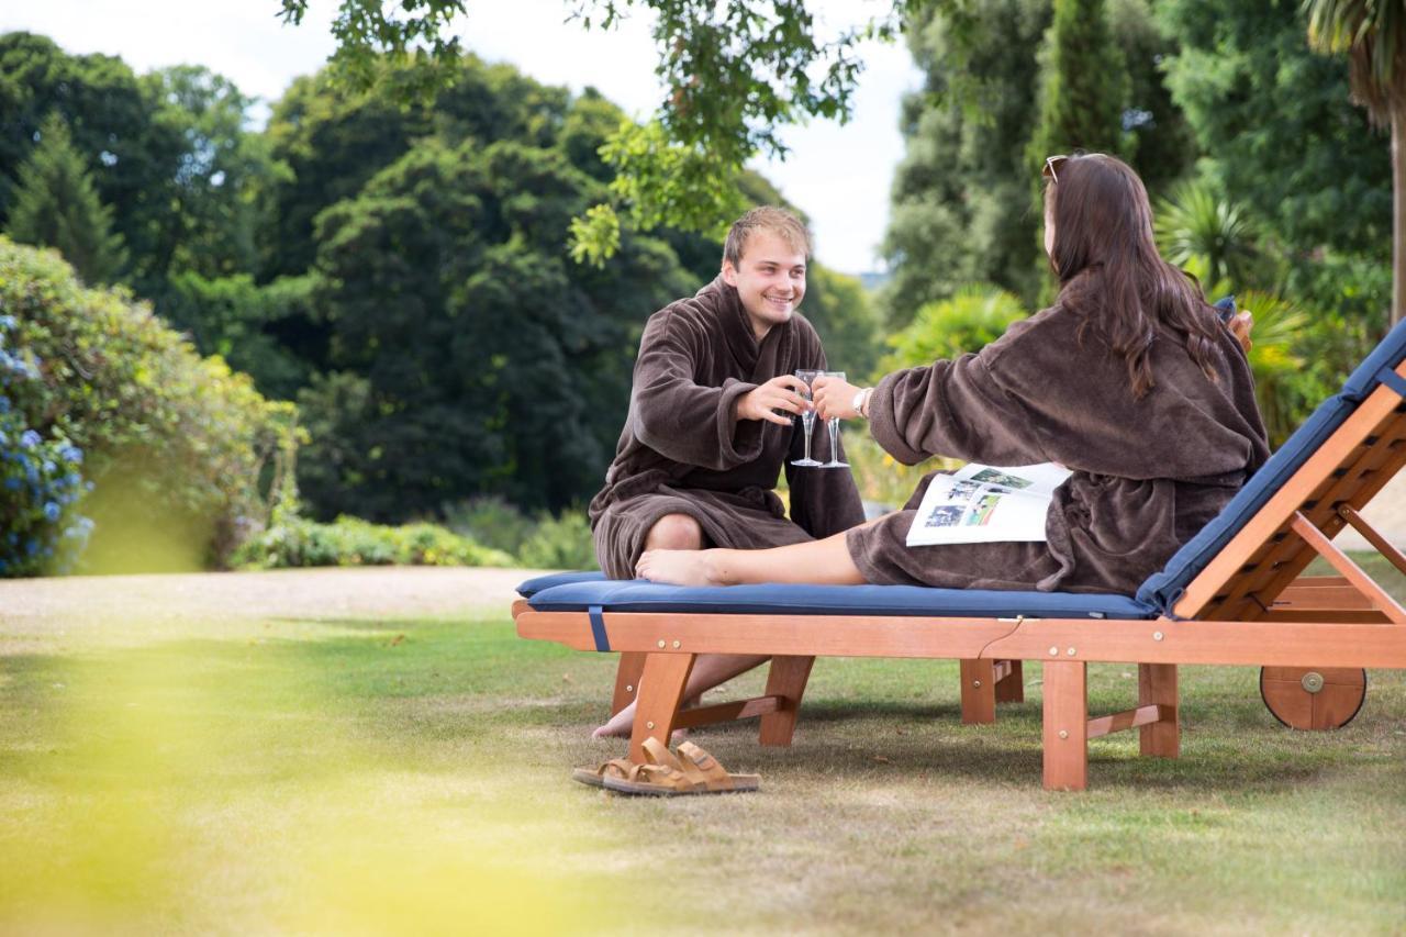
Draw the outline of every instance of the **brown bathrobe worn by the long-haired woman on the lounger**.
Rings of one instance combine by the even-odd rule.
[[[1047,543],[908,547],[920,487],[904,511],[846,536],[866,580],[1132,594],[1268,457],[1250,367],[1229,331],[1219,332],[1215,383],[1159,331],[1156,385],[1133,400],[1122,356],[1092,328],[1080,340],[1078,325],[1078,314],[1056,305],[979,355],[879,383],[870,428],[905,464],[941,454],[1054,461],[1074,474],[1054,492]]]

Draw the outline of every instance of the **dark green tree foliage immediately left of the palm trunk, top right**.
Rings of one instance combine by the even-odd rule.
[[[1299,263],[1391,241],[1391,156],[1348,101],[1347,65],[1315,55],[1296,3],[1163,0],[1166,59],[1204,172]]]

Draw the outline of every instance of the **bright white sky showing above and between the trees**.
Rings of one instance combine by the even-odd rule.
[[[276,0],[42,0],[0,4],[0,32],[48,35],[70,53],[121,56],[136,72],[204,65],[267,103],[316,70],[333,51],[328,24],[335,0],[314,0],[302,25],[284,25]],[[567,0],[468,0],[456,23],[464,45],[491,62],[510,62],[547,84],[589,86],[637,118],[654,113],[662,90],[654,76],[650,20],[636,11],[609,32],[568,23]],[[886,0],[813,0],[820,28],[882,14]],[[903,42],[868,42],[853,115],[841,127],[814,121],[790,128],[785,163],[758,160],[782,194],[811,219],[815,259],[845,273],[882,270],[877,256],[889,218],[889,187],[903,158],[898,108],[921,86]]]

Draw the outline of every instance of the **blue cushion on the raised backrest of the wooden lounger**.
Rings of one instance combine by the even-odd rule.
[[[1187,585],[1215,559],[1230,540],[1268,504],[1277,491],[1313,456],[1315,452],[1341,428],[1358,405],[1384,380],[1406,391],[1393,371],[1406,357],[1406,322],[1399,324],[1353,371],[1343,390],[1323,401],[1268,461],[1246,483],[1225,509],[1201,533],[1178,550],[1161,571],[1154,573],[1137,589],[1140,602],[1171,613]],[[1393,439],[1365,439],[1372,446],[1393,446]],[[1403,447],[1406,449],[1406,447]],[[1327,481],[1327,478],[1324,478]],[[1385,484],[1376,480],[1371,494]],[[1369,495],[1368,495],[1369,497]],[[1336,532],[1336,530],[1334,530]],[[1277,535],[1277,536],[1284,536]],[[1305,560],[1306,561],[1306,560]]]

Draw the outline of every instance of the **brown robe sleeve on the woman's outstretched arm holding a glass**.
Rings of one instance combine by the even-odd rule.
[[[993,466],[1052,461],[1021,401],[993,374],[987,350],[879,381],[869,401],[875,440],[905,466],[931,456]]]

